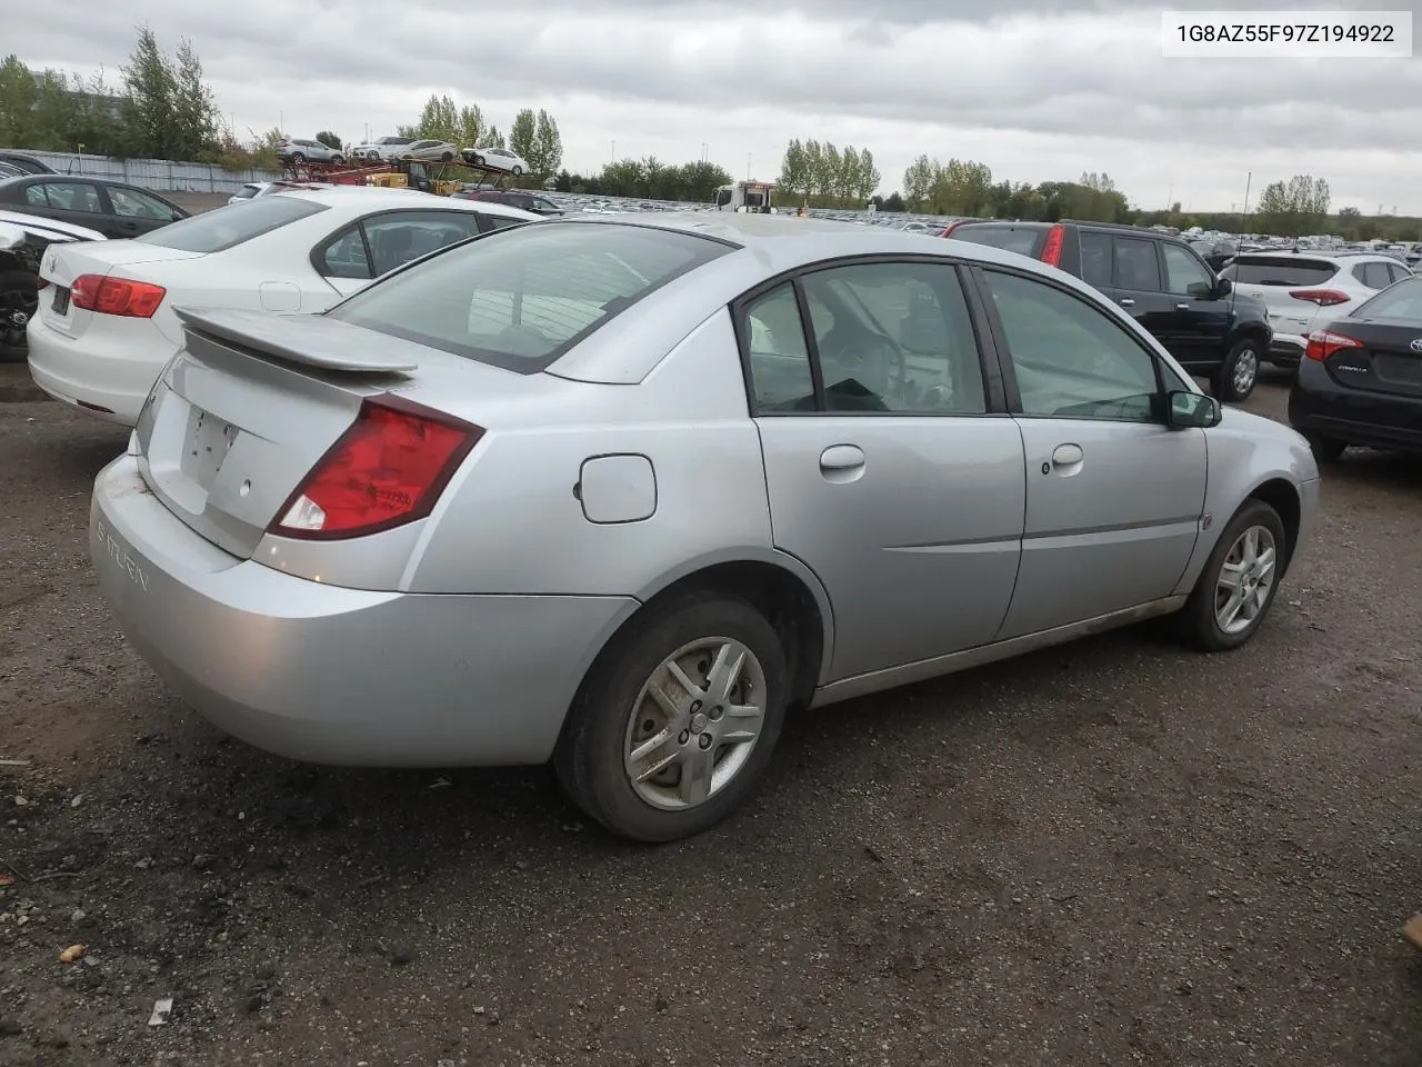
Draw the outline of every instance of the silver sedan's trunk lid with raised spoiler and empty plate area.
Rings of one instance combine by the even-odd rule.
[[[471,417],[452,401],[472,397],[488,413],[533,386],[528,376],[321,314],[178,316],[183,349],[138,418],[139,469],[173,515],[243,559],[365,397],[398,393]]]

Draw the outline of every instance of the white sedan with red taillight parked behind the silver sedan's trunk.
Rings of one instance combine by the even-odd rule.
[[[51,248],[30,374],[55,400],[134,425],[182,346],[178,307],[324,312],[428,252],[540,216],[410,189],[292,189],[134,240]]]

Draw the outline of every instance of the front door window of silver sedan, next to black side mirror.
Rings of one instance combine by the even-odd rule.
[[[984,270],[1024,415],[1159,421],[1150,353],[1121,323],[1044,282]]]

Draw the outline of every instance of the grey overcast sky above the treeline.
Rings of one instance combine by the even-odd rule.
[[[1327,6],[1249,0],[1295,16]],[[1105,171],[1143,208],[1173,198],[1229,209],[1253,171],[1251,199],[1310,172],[1328,179],[1335,209],[1422,213],[1422,60],[1166,60],[1160,10],[1118,0],[132,0],[6,18],[0,48],[117,80],[146,20],[165,48],[192,40],[242,137],[279,122],[293,137],[378,137],[448,92],[505,131],[518,108],[547,108],[574,171],[602,166],[614,142],[619,158],[665,162],[698,159],[705,145],[734,176],[772,178],[799,137],[872,149],[886,193],[924,152],[1012,181]]]

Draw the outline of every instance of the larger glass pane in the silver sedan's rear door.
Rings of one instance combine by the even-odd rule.
[[[829,411],[987,411],[954,267],[856,263],[809,273],[803,286]]]

